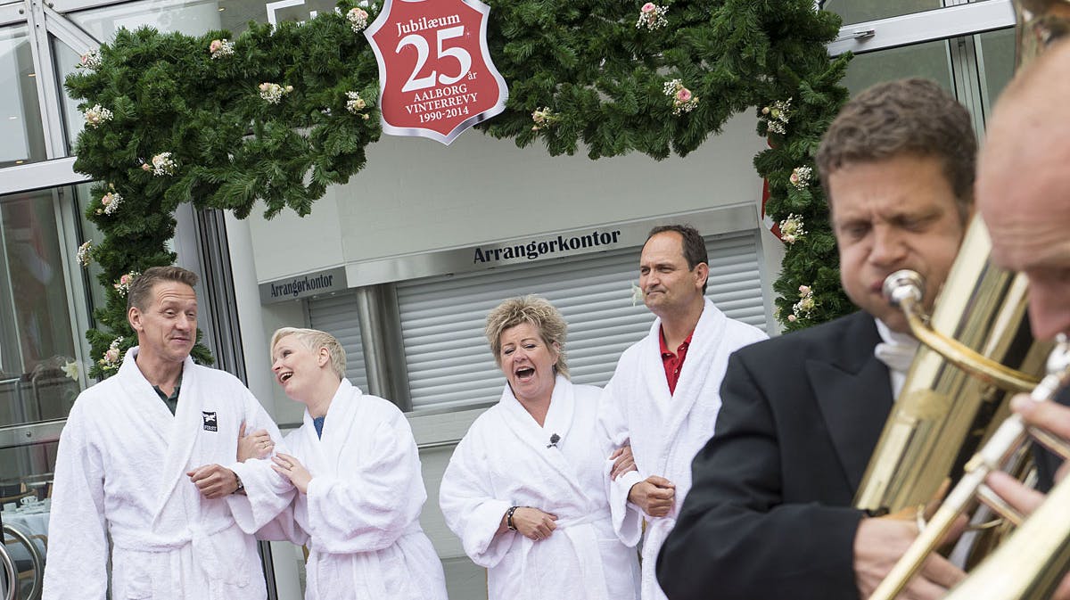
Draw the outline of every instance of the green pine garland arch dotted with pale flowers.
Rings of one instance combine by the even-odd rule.
[[[645,11],[638,0],[489,3],[488,46],[509,99],[479,128],[521,147],[541,141],[552,155],[662,159],[760,107],[758,133],[771,148],[754,165],[769,182],[767,212],[778,221],[800,215],[807,231],[775,284],[781,321],[792,329],[850,311],[816,178],[790,182],[793,169],[812,167],[846,96],[849,57],[829,60],[825,48],[839,17],[811,0],[668,0]],[[166,242],[179,204],[242,218],[262,200],[268,218],[287,207],[306,215],[328,185],[364,168],[381,134],[378,66],[345,16],[353,4],[339,9],[303,25],[250,24],[232,42],[225,31],[120,30],[67,78],[87,111],[75,169],[97,182],[87,216],[105,235],[85,252],[108,292],[94,313],[102,327],[87,333],[93,375],[113,372],[109,348],[113,357],[135,343],[117,283],[174,260]],[[785,113],[763,114],[789,98]],[[793,312],[804,284],[813,307]],[[211,360],[202,345],[195,357]]]

